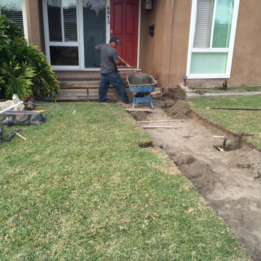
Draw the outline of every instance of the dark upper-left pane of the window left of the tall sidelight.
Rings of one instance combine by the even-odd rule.
[[[62,42],[60,0],[47,0],[49,39]]]

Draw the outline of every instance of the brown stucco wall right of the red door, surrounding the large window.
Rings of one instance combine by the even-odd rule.
[[[192,0],[155,0],[153,10],[141,5],[139,67],[158,79],[159,86],[176,87],[186,75]],[[260,0],[240,1],[229,85],[261,85]],[[155,24],[154,36],[148,26]],[[188,79],[201,86],[221,86],[224,79]]]

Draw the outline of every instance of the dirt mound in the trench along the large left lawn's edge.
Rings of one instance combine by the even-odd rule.
[[[182,155],[173,161],[182,173],[186,173],[186,177],[193,182],[200,193],[213,191],[218,177],[209,165],[192,155]]]

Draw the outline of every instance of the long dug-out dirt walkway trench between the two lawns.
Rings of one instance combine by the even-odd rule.
[[[172,97],[153,98],[152,113],[130,114],[137,121],[185,119],[139,122],[139,125],[180,127],[146,128],[146,131],[153,137],[153,145],[163,146],[214,211],[238,235],[253,260],[261,260],[261,153],[241,137],[199,119],[178,100],[177,91],[169,96]],[[144,104],[135,104],[135,108],[144,108]],[[217,150],[224,139],[213,136],[228,139],[225,152]]]

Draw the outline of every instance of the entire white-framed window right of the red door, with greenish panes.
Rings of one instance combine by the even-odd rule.
[[[239,0],[193,0],[187,75],[229,78]]]

